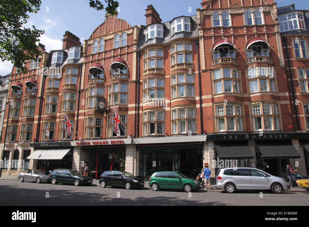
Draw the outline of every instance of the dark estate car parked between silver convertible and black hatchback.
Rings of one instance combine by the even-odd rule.
[[[56,169],[49,174],[48,181],[52,184],[65,183],[78,186],[80,184],[92,184],[93,180],[91,177],[84,176],[77,170]]]

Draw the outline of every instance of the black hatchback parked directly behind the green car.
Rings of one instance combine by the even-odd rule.
[[[125,187],[125,189],[144,187],[144,181],[142,179],[134,177],[129,172],[116,171],[116,170],[105,171],[100,176],[99,183],[101,187],[119,186],[119,187]]]

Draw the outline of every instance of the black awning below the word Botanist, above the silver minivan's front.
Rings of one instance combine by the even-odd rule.
[[[262,157],[300,158],[291,142],[256,142]]]

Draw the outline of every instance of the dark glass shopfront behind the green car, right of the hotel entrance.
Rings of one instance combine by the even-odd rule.
[[[150,177],[158,171],[175,171],[189,178],[196,178],[196,172],[199,172],[202,166],[202,149],[140,150],[140,177]]]

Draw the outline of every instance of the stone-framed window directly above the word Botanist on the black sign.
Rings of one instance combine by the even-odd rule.
[[[279,115],[276,104],[258,103],[252,105],[254,131],[279,130]]]

